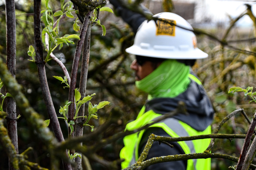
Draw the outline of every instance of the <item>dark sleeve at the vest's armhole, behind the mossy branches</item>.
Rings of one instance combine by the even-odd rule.
[[[148,128],[141,139],[140,145],[139,145],[139,154],[142,153],[148,136],[153,133],[158,136],[169,136],[162,128]],[[175,154],[185,154],[183,149],[180,147],[180,145],[177,142],[169,142],[174,147],[171,148],[170,146],[161,143],[159,145],[158,142],[154,142],[151,149],[149,150],[147,159],[151,159],[154,157],[160,157],[160,156],[167,156],[167,155],[175,155]],[[157,163],[148,166],[145,168],[145,170],[186,170],[187,169],[187,161],[172,161],[172,162],[162,162]]]

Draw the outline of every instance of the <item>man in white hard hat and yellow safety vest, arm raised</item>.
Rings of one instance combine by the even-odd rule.
[[[148,93],[148,100],[137,119],[128,123],[126,130],[138,129],[156,117],[175,110],[179,101],[186,104],[189,113],[177,114],[145,130],[126,136],[125,146],[120,153],[120,157],[125,160],[121,165],[125,168],[138,159],[151,133],[172,137],[210,134],[214,110],[201,82],[190,68],[196,59],[208,57],[197,48],[195,34],[188,31],[192,30],[191,25],[182,17],[169,12],[156,14],[154,17],[166,19],[185,29],[159,20],[144,21],[143,16],[123,8],[117,1],[110,2],[136,33],[134,45],[127,48],[126,52],[136,57],[131,64],[131,69],[136,72],[136,87]],[[210,139],[169,142],[173,148],[153,143],[147,159],[203,152],[209,141]],[[210,159],[165,162],[151,165],[146,169],[207,170],[210,169]]]

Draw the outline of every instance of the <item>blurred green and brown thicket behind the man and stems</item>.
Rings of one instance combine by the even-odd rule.
[[[107,5],[112,8],[110,4]],[[59,10],[59,1],[51,1],[51,6],[56,11]],[[36,64],[27,60],[30,59],[27,55],[28,47],[34,45],[33,1],[17,1],[16,8],[16,79],[24,87],[23,92],[31,106],[46,120],[49,117],[42,99]],[[44,8],[44,1],[42,1],[42,9]],[[0,4],[0,57],[3,60],[6,59],[5,12],[4,3]],[[101,27],[98,25],[92,27],[86,94],[96,93],[96,96],[91,100],[92,103],[99,103],[104,100],[111,102],[109,106],[98,111],[99,119],[91,120],[90,124],[97,128],[97,126],[104,124],[105,120],[112,119],[113,121],[107,130],[98,136],[98,140],[122,132],[125,125],[136,118],[147,98],[145,93],[134,86],[134,72],[130,69],[130,63],[134,56],[127,55],[125,52],[125,49],[133,44],[134,34],[131,29],[120,17],[108,12],[102,12],[100,20],[107,31],[106,35],[102,36]],[[61,20],[60,36],[76,34],[72,29],[73,21],[74,19],[71,18]],[[195,27],[198,26],[197,24],[191,24]],[[81,22],[79,25],[81,27]],[[239,29],[236,25],[232,25],[230,30],[228,28],[227,24],[219,24],[218,28],[204,31],[216,36],[219,40],[229,42],[233,47],[255,53],[255,28],[246,31]],[[228,34],[224,36],[226,32]],[[252,118],[256,105],[253,103],[249,105],[248,98],[244,98],[242,93],[228,94],[227,92],[232,86],[242,88],[256,86],[255,55],[227,48],[227,46],[222,46],[219,42],[211,40],[205,35],[197,36],[197,41],[198,47],[209,54],[208,58],[198,60],[193,70],[204,84],[216,111],[212,128],[214,129],[228,113],[236,108],[244,108],[248,116]],[[76,42],[74,45],[64,45],[61,50],[56,49],[54,51],[55,56],[62,60],[69,73],[71,73],[75,47]],[[58,113],[59,107],[64,106],[68,100],[68,89],[63,89],[60,82],[52,76],[63,77],[64,75],[54,61],[46,64],[46,74],[52,100]],[[80,77],[79,74],[78,77]],[[1,91],[1,93],[5,92]],[[20,112],[17,109],[18,114]],[[59,121],[63,135],[67,138],[67,125],[62,119]],[[18,119],[17,126],[19,152],[23,152],[28,147],[33,147],[34,151],[30,154],[29,160],[38,162],[42,167],[48,167],[49,154],[45,150],[44,143],[35,136],[34,130],[29,128],[22,115]],[[238,115],[229,120],[221,128],[220,133],[246,134],[248,127],[249,124],[244,117]],[[84,127],[84,133],[91,133],[90,127]],[[92,143],[93,141],[83,144],[91,145]],[[226,153],[239,157],[242,145],[242,139],[234,139],[231,142],[228,139],[216,139],[212,153]],[[89,158],[92,169],[111,169],[104,166],[104,161],[118,160],[122,147],[122,139],[119,139],[102,148],[97,153],[102,157],[102,160]],[[0,151],[3,152],[2,146],[0,146]],[[5,154],[0,155],[0,160],[0,169],[8,169],[8,158]],[[235,164],[227,160],[212,159],[212,169],[228,169],[229,166]]]

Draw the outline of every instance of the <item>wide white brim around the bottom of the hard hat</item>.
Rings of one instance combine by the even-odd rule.
[[[208,54],[199,48],[188,49],[186,51],[180,50],[155,50],[155,49],[143,49],[136,45],[126,48],[125,51],[129,54],[155,57],[155,58],[166,58],[166,59],[202,59],[207,58]]]

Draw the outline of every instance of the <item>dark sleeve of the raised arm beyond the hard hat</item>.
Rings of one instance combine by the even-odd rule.
[[[132,27],[133,32],[136,34],[138,28],[146,18],[141,14],[122,7],[118,0],[110,0],[109,2],[115,7],[118,15]]]

